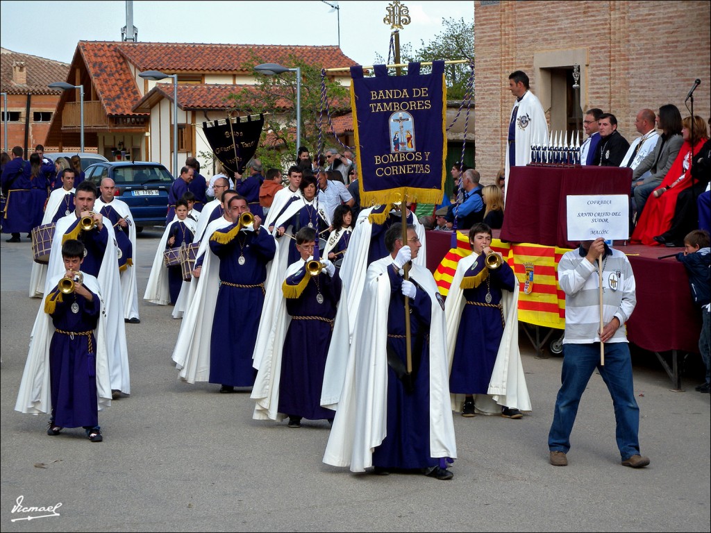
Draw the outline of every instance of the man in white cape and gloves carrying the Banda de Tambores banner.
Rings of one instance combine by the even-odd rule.
[[[401,277],[402,266],[419,250],[415,228],[408,227],[403,242],[401,226],[393,225],[385,242],[390,255],[368,268],[324,463],[349,466],[353,472],[373,465],[380,473],[415,469],[448,480],[453,476],[447,459],[456,458],[456,442],[447,384],[444,303],[429,270],[412,264],[410,281]],[[415,341],[410,375],[402,375],[398,368],[404,365],[403,296],[410,298]]]

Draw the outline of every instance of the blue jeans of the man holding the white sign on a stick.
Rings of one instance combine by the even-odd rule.
[[[639,453],[639,407],[634,398],[632,362],[627,343],[607,343],[604,366],[600,366],[599,343],[563,345],[562,385],[555,400],[548,448],[564,453],[570,450],[570,432],[580,397],[595,368],[599,370],[612,397],[617,447],[622,461],[626,461]]]

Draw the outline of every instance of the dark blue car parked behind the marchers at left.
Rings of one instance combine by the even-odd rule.
[[[165,226],[168,212],[168,192],[173,176],[161,163],[147,161],[114,161],[95,163],[85,169],[85,179],[97,187],[102,178],[111,178],[114,196],[131,209],[136,230],[144,227]]]

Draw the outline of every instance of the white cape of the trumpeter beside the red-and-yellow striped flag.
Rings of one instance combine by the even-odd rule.
[[[459,332],[461,313],[466,305],[463,297],[464,291],[461,290],[461,279],[477,257],[479,257],[477,254],[471,254],[459,260],[454,279],[449,287],[447,302],[444,305],[447,318],[447,375],[451,372],[456,335]],[[477,411],[483,414],[501,414],[501,406],[520,409],[520,411],[531,411],[532,409],[530,397],[528,397],[528,387],[526,387],[523,375],[521,354],[518,350],[518,280],[513,293],[502,291],[501,304],[506,325],[503,328],[503,337],[491,373],[488,395],[476,394],[474,399]],[[451,408],[454,411],[461,411],[464,397],[464,394],[451,394]]]

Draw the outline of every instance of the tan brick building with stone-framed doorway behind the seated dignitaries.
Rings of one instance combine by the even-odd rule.
[[[639,109],[684,99],[696,78],[694,114],[708,119],[711,3],[708,1],[474,2],[476,168],[491,183],[503,166],[513,97],[508,75],[523,70],[552,130],[574,131],[575,108],[613,113],[630,140]],[[572,89],[580,65],[579,105]],[[569,134],[570,137],[570,134]],[[581,134],[582,141],[582,134]]]

